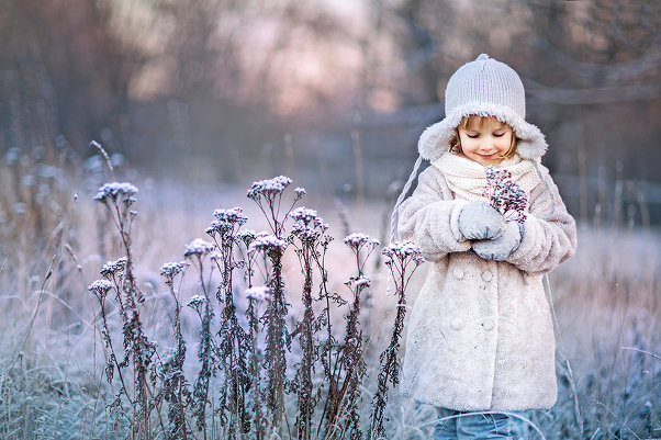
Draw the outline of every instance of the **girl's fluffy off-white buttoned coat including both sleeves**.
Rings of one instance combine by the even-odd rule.
[[[570,258],[576,227],[548,170],[529,194],[518,249],[483,260],[462,240],[468,203],[435,167],[400,207],[399,233],[433,267],[413,306],[401,391],[459,410],[551,407],[557,398],[553,326],[541,275]]]

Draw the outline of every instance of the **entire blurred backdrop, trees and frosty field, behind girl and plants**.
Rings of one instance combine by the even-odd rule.
[[[328,289],[348,295],[341,238],[388,242],[417,138],[444,116],[449,76],[481,53],[520,75],[542,162],[579,222],[576,255],[547,285],[560,397],[534,421],[549,440],[661,438],[660,30],[658,0],[0,0],[0,438],[108,437],[87,286],[123,250],[92,200],[101,184],[139,188],[133,258],[160,354],[172,341],[158,268],[209,238],[215,208],[268,228],[246,199],[257,180],[307,190],[301,203],[336,238]],[[374,354],[396,308],[378,251],[366,268]],[[186,277],[183,303],[199,293]],[[184,308],[192,380],[199,320]],[[435,410],[391,398],[390,438],[424,438]]]

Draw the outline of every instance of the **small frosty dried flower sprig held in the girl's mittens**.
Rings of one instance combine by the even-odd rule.
[[[523,224],[526,221],[528,196],[526,192],[512,180],[512,172],[506,169],[486,167],[486,188],[483,195],[490,205],[503,214],[507,221]]]

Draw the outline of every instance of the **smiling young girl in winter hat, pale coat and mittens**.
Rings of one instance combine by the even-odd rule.
[[[547,144],[525,121],[511,67],[484,54],[466,64],[448,82],[445,111],[421,136],[393,213],[394,232],[432,261],[411,313],[402,390],[439,408],[436,439],[511,439],[513,414],[557,398],[541,278],[574,253],[575,223],[540,163]],[[402,202],[421,158],[432,166]],[[486,166],[525,191],[525,222],[489,205]]]

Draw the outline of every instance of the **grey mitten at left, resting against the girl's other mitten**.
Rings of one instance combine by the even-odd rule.
[[[488,203],[477,200],[459,213],[459,232],[467,240],[491,240],[505,232],[505,217]]]

